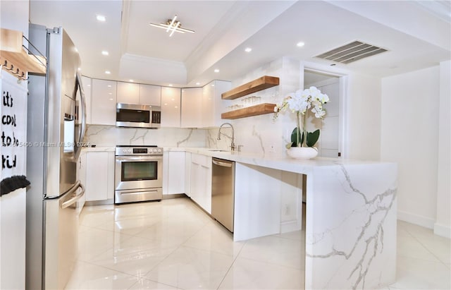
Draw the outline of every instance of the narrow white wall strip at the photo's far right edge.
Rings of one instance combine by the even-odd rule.
[[[451,61],[440,63],[437,217],[434,233],[451,238]]]

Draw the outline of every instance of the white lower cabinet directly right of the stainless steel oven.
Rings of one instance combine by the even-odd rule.
[[[163,152],[163,195],[185,193],[185,152]]]

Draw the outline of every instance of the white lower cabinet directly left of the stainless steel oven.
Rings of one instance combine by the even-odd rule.
[[[79,162],[79,178],[85,186],[86,201],[113,201],[114,152],[86,152]]]

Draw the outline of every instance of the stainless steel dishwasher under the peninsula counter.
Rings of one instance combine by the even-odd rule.
[[[233,232],[235,162],[211,159],[211,215]]]

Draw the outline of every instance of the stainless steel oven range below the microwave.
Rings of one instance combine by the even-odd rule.
[[[161,200],[163,186],[163,148],[116,146],[114,203]]]

